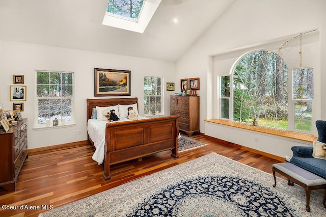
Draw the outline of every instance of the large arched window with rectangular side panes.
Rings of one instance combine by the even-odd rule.
[[[277,53],[257,50],[240,58],[232,72],[220,79],[221,118],[311,132],[312,68],[292,70],[291,77]]]

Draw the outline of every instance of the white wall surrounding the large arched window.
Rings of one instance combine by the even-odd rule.
[[[200,131],[205,134],[207,134],[206,130],[212,131],[211,125],[205,124],[204,119],[213,118],[218,112],[216,103],[211,106],[217,96],[216,76],[217,74],[227,74],[230,70],[223,67],[218,68],[216,64],[214,65],[212,56],[239,47],[253,47],[257,44],[266,44],[266,42],[272,42],[276,39],[285,39],[287,36],[318,29],[320,31],[319,42],[314,43],[319,44],[314,62],[316,65],[313,65],[313,67],[318,70],[317,74],[319,76],[315,77],[315,80],[321,84],[326,82],[326,66],[321,64],[326,60],[325,9],[326,2],[323,0],[236,0],[197,40],[192,48],[184,53],[176,64],[178,78],[200,77]],[[326,86],[319,85],[319,87],[320,92],[317,95],[321,100],[319,108],[316,109],[319,114],[316,114],[315,118],[326,120],[326,113],[321,112],[321,108],[326,106]],[[237,131],[225,132],[232,135],[239,133]],[[246,137],[246,134],[243,136]],[[247,140],[243,139],[242,141]],[[251,138],[248,141],[252,141]],[[274,147],[273,142],[269,142],[269,140],[266,140],[266,143],[259,144],[259,146],[241,141],[238,144],[258,150],[266,150],[263,149],[263,146]],[[288,149],[288,146],[284,146],[282,148],[284,151],[278,152],[276,155],[283,156]]]

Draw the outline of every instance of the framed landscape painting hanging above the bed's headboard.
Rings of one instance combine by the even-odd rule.
[[[130,73],[127,70],[94,69],[94,96],[130,96]]]

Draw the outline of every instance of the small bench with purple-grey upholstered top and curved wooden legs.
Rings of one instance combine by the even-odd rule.
[[[288,179],[288,185],[293,185],[293,183],[298,184],[305,188],[306,190],[306,210],[310,212],[310,193],[312,190],[315,189],[322,189],[324,188],[324,196],[322,199],[322,204],[326,208],[325,200],[326,200],[326,180],[317,176],[307,170],[304,170],[294,164],[289,162],[284,162],[280,164],[273,165],[273,176],[275,184],[273,187],[276,186],[276,177],[275,172],[283,175]]]

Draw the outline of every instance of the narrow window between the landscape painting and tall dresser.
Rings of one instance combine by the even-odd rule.
[[[144,114],[163,115],[162,78],[144,76]]]

